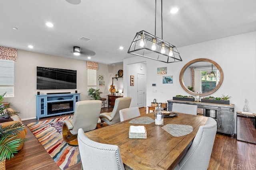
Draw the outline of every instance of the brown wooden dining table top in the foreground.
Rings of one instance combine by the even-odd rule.
[[[118,145],[125,169],[132,170],[169,170],[176,167],[188,148],[201,125],[206,123],[207,117],[177,113],[175,117],[164,117],[164,125],[190,125],[193,131],[188,135],[174,137],[155,123],[131,124],[126,120],[100,129],[86,132],[93,141]],[[146,115],[154,119],[154,112]],[[143,117],[140,116],[140,117]],[[144,126],[147,139],[130,139],[129,127]]]

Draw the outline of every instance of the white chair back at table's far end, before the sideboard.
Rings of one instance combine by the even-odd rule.
[[[172,111],[178,113],[186,113],[190,115],[197,115],[197,105],[174,103],[172,104]]]

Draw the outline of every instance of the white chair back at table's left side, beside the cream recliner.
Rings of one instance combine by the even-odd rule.
[[[140,116],[140,110],[139,107],[129,107],[126,109],[119,110],[119,114],[120,121],[125,121]]]

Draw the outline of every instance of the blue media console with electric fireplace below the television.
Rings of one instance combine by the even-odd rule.
[[[80,93],[36,95],[36,118],[74,113]]]

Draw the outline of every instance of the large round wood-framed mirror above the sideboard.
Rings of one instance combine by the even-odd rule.
[[[222,68],[210,59],[195,59],[188,62],[180,71],[180,85],[189,94],[208,96],[223,82]]]

